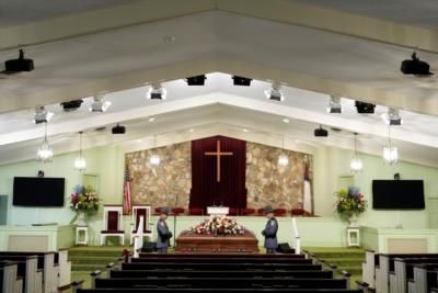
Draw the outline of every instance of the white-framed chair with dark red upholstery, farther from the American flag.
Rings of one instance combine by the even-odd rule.
[[[120,245],[125,244],[125,230],[122,229],[123,205],[107,204],[103,206],[104,229],[101,230],[101,245],[105,245],[107,236],[120,238]]]

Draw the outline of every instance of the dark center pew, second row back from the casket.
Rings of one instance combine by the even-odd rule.
[[[131,262],[173,262],[173,263],[312,263],[311,259],[304,258],[132,258]]]

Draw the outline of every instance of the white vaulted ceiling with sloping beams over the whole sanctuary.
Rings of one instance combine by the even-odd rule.
[[[0,18],[0,34],[5,36],[0,40],[0,60],[16,57],[22,47],[18,44],[28,36],[33,45],[24,48],[36,67],[32,72],[0,76],[0,164],[34,157],[43,135],[41,125],[32,123],[35,105],[46,105],[56,113],[49,123],[56,154],[74,150],[77,133],[84,129],[87,147],[93,147],[169,132],[181,134],[189,128],[199,129],[197,135],[201,129],[207,135],[247,128],[278,137],[286,135],[288,147],[301,151],[313,151],[320,145],[351,148],[351,133],[357,132],[361,151],[378,155],[388,135],[380,114],[392,105],[402,109],[405,121],[391,134],[402,158],[438,166],[436,77],[403,76],[400,63],[410,57],[412,48],[396,40],[385,43],[376,36],[372,41],[360,32],[327,31],[318,23],[304,25],[298,19],[273,20],[276,13],[284,18],[295,8],[289,3],[308,1],[257,1],[247,9],[228,0],[189,0],[184,3],[192,5],[186,7],[174,0],[124,1],[123,9],[122,1],[116,0],[85,1],[81,7],[62,1],[61,10],[46,1],[31,2],[0,4],[1,12],[9,12],[8,18]],[[400,13],[392,15],[389,11],[399,8],[396,1],[376,7],[350,1],[309,3],[353,16],[423,26],[418,22],[420,11],[431,2],[403,2],[404,11],[411,8],[415,13],[405,15],[397,10]],[[26,12],[19,12],[24,5]],[[251,9],[263,5],[269,15],[253,16]],[[92,18],[87,14],[90,11]],[[127,11],[131,13],[126,14]],[[71,23],[72,19],[77,23]],[[66,23],[70,26],[62,25]],[[31,26],[46,30],[36,34]],[[419,56],[437,68],[438,54],[419,50]],[[199,74],[208,74],[205,87],[187,87],[182,80]],[[250,88],[233,87],[233,74],[256,80]],[[145,98],[147,84],[157,80],[165,81],[166,101]],[[269,80],[283,83],[284,103],[267,101],[263,95]],[[91,97],[100,92],[107,92],[105,99],[113,105],[107,113],[90,113]],[[328,94],[343,97],[343,114],[325,112]],[[84,99],[81,109],[62,112],[59,102],[72,99]],[[376,114],[357,114],[355,99],[377,103]],[[150,116],[157,121],[150,123]],[[283,123],[284,117],[290,123]],[[116,137],[108,131],[94,131],[101,126],[111,128],[118,122],[127,126],[127,135]],[[313,129],[319,124],[343,131],[331,132],[328,138],[315,138]]]

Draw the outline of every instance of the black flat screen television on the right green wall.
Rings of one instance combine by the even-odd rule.
[[[372,209],[424,210],[423,180],[372,180]]]

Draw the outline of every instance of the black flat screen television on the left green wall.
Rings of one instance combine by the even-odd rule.
[[[64,206],[65,178],[14,177],[12,204],[18,206]]]

